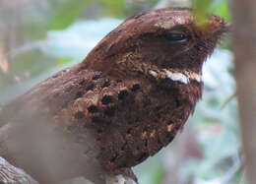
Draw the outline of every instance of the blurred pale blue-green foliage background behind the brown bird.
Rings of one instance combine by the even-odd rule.
[[[129,16],[173,6],[231,19],[227,0],[0,0],[0,108],[81,62]],[[134,168],[141,184],[246,183],[229,47],[227,37],[206,62],[203,100],[182,133]]]

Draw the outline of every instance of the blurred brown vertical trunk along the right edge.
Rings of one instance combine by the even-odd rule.
[[[233,52],[242,145],[250,183],[256,181],[256,1],[234,0]]]

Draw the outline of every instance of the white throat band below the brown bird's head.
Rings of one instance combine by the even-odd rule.
[[[192,71],[175,71],[163,69],[161,71],[150,70],[149,74],[154,78],[169,79],[174,82],[180,82],[182,84],[189,84],[190,81],[202,82],[202,76]]]

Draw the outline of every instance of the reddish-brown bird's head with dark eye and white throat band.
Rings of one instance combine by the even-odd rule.
[[[198,24],[191,9],[151,10],[107,34],[83,64],[125,78],[201,80],[203,62],[226,31],[224,20],[217,16]]]

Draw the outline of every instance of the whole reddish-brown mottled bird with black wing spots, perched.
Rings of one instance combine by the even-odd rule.
[[[39,183],[85,176],[137,183],[132,167],[166,147],[202,97],[202,67],[227,32],[192,9],[149,10],[102,38],[79,64],[6,104],[0,155]]]

